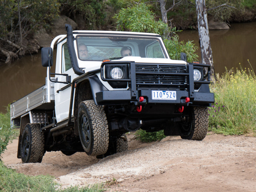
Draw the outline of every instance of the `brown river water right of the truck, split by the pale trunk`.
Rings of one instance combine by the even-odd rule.
[[[256,22],[231,24],[229,30],[210,30],[209,33],[216,73],[224,73],[225,67],[228,70],[240,69],[240,65],[242,68],[253,68],[256,72]],[[178,35],[180,40],[193,40],[199,47],[197,30],[186,30]],[[201,60],[200,49],[197,50],[197,54],[198,60]]]

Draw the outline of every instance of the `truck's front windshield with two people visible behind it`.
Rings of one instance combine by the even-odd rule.
[[[158,38],[77,36],[80,60],[102,61],[126,56],[166,58]]]

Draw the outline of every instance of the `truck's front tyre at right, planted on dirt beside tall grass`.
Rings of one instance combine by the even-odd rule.
[[[209,116],[207,107],[194,107],[191,110],[190,124],[181,126],[181,138],[203,140],[207,134]]]

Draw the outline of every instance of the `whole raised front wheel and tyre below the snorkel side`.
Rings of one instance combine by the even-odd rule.
[[[97,106],[94,100],[79,104],[78,132],[86,154],[97,156],[107,152],[108,121],[102,106]]]

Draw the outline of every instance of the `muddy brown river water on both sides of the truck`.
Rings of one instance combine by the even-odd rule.
[[[197,30],[186,30],[178,35],[180,40],[193,40],[199,46]],[[256,72],[256,22],[232,24],[229,30],[210,30],[210,42],[217,73],[225,72],[225,67],[228,70],[240,68],[240,65],[250,68],[248,60]],[[200,50],[197,53],[201,58]],[[0,71],[0,112],[6,112],[9,103],[45,84],[46,68],[41,65],[40,53],[8,65],[0,63]]]

